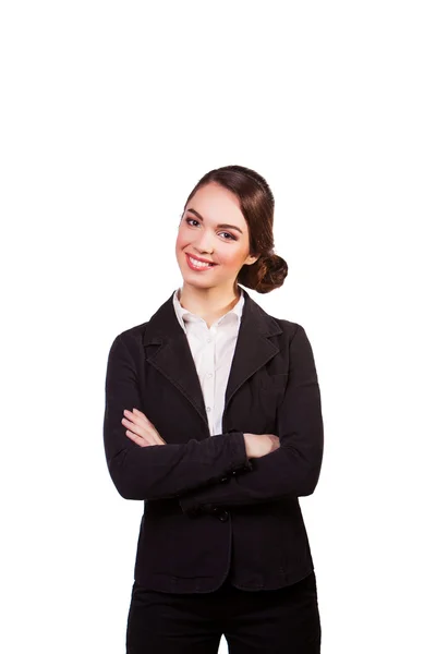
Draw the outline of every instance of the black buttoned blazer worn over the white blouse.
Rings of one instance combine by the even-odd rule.
[[[152,590],[271,590],[314,569],[299,496],[318,482],[324,428],[312,348],[301,325],[268,315],[250,295],[226,390],[222,434],[206,408],[172,293],[109,351],[104,444],[122,497],[144,500],[134,579]],[[143,411],[167,445],[140,447],[123,410]],[[247,459],[243,433],[280,447]]]

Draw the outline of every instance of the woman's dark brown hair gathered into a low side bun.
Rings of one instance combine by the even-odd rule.
[[[244,166],[223,166],[202,177],[191,191],[186,205],[199,187],[218,183],[238,196],[241,211],[249,225],[250,254],[259,258],[242,266],[237,282],[258,293],[269,293],[282,286],[288,275],[288,264],[274,253],[274,195],[266,180]]]

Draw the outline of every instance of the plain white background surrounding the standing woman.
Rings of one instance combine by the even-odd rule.
[[[251,295],[318,370],[323,653],[435,646],[433,7],[2,2],[3,652],[125,651],[143,505],[106,468],[107,355],[229,164],[269,182],[289,264]]]

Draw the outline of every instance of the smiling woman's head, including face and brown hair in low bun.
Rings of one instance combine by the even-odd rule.
[[[186,266],[213,269],[214,286],[240,282],[258,293],[278,288],[288,265],[274,253],[272,222],[274,196],[258,173],[241,166],[208,172],[190,193],[180,221],[175,255],[182,274]],[[204,277],[205,284],[210,280]]]

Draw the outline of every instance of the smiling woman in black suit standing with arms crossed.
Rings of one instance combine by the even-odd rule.
[[[323,417],[301,325],[240,284],[280,287],[274,196],[227,166],[190,193],[175,256],[183,286],[118,335],[108,358],[105,451],[144,501],[129,654],[315,654],[320,621],[299,497],[314,492]]]

